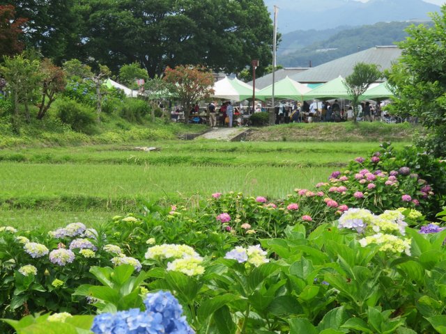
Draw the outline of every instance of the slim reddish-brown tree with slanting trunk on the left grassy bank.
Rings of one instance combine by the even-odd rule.
[[[61,67],[56,66],[48,58],[45,58],[40,64],[42,74],[42,102],[39,105],[37,114],[38,120],[41,120],[47,113],[49,106],[56,100],[57,93],[65,90],[67,80],[66,74]]]

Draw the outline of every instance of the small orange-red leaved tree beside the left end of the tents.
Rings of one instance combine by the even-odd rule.
[[[189,120],[192,104],[214,93],[213,74],[203,66],[178,65],[174,69],[167,67],[163,79],[171,84],[171,93],[178,97],[185,108],[186,121]]]

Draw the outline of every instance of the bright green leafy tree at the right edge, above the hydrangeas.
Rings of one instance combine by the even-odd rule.
[[[446,6],[432,14],[432,26],[412,25],[409,37],[399,42],[399,63],[386,72],[394,86],[390,111],[420,118],[429,129],[417,145],[437,157],[446,156]]]

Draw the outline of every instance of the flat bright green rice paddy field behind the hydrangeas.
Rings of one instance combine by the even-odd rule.
[[[378,143],[156,141],[0,150],[0,225],[95,225],[144,202],[187,202],[214,192],[283,198],[326,180]],[[399,148],[408,143],[395,143]]]

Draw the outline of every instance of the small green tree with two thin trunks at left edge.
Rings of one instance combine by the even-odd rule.
[[[29,104],[36,100],[42,74],[40,72],[40,61],[29,60],[22,55],[4,57],[4,64],[0,67],[0,73],[6,79],[8,89],[13,95],[14,118],[18,122],[19,104],[24,104],[25,118],[29,122]]]

